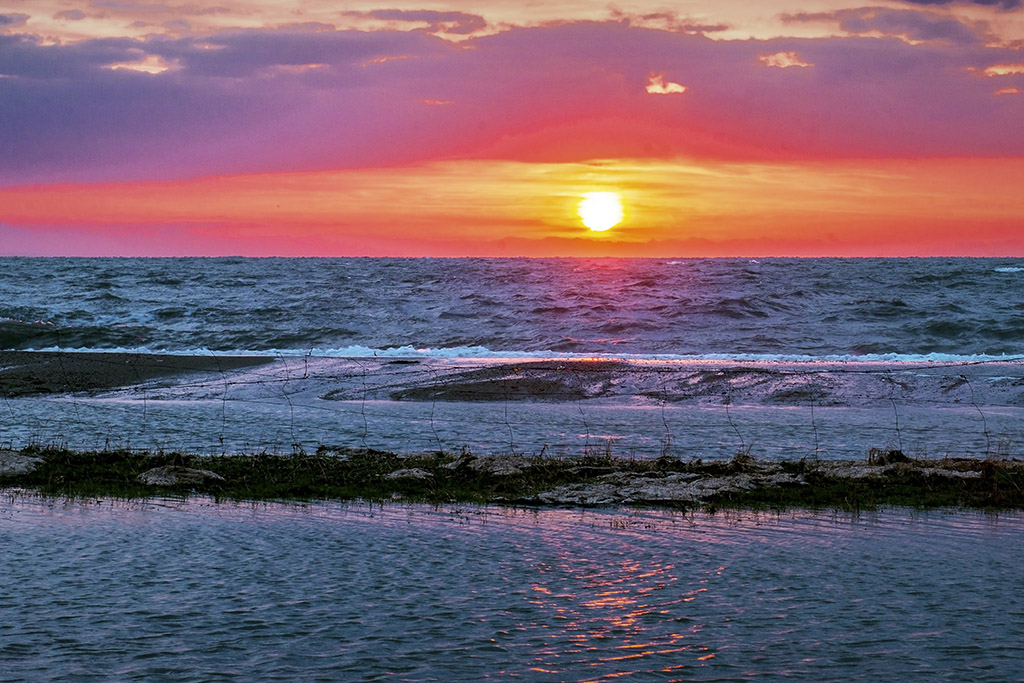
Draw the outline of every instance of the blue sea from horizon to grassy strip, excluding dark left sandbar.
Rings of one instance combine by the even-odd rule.
[[[1024,260],[0,259],[0,349],[256,355],[7,398],[0,444],[1015,456]]]

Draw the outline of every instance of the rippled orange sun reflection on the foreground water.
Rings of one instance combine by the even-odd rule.
[[[574,526],[590,521],[579,511],[551,514]],[[543,640],[520,672],[588,671],[592,680],[662,672],[660,679],[670,680],[668,672],[715,666],[703,605],[728,568],[652,556],[642,541],[658,527],[644,513],[613,515],[589,528],[546,535],[545,550],[531,563],[521,594],[531,616],[522,628]],[[697,547],[713,539],[689,541]]]

